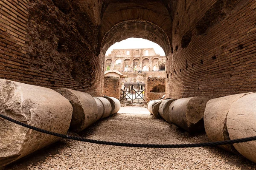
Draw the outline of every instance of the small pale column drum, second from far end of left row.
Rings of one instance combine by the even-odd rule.
[[[112,107],[108,99],[105,99],[104,97],[94,97],[94,99],[101,103],[97,102],[98,107],[100,107],[100,110],[102,111],[101,119],[110,116],[112,113]]]

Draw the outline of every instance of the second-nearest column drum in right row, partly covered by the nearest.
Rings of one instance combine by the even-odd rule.
[[[224,96],[211,99],[207,102],[204,112],[204,128],[208,138],[211,141],[215,142],[230,140],[226,125],[227,115],[231,105],[233,105],[234,102],[247,94],[245,93]],[[221,145],[219,147],[224,150],[237,153],[232,144]]]

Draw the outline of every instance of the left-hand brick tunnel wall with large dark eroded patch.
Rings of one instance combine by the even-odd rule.
[[[72,1],[60,2],[0,1],[0,78],[102,96],[98,28]]]

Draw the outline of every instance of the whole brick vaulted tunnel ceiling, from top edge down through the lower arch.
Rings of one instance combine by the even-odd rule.
[[[156,42],[168,55],[172,37],[170,11],[173,6],[168,0],[105,1],[99,35],[103,53],[115,42],[135,37]]]

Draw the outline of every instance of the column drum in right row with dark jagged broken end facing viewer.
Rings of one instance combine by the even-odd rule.
[[[177,99],[169,106],[170,121],[188,132],[204,130],[204,109],[208,99],[190,97]]]

